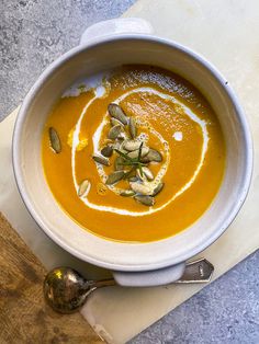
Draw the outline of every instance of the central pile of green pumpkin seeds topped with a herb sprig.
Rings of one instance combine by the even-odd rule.
[[[92,156],[98,163],[109,167],[110,158],[115,154],[114,171],[108,175],[106,185],[114,185],[122,180],[128,182],[128,188],[120,192],[121,196],[132,197],[136,202],[153,206],[155,196],[160,193],[164,183],[154,186],[155,180],[148,165],[160,163],[162,156],[159,151],[148,147],[137,138],[137,125],[134,117],[125,115],[122,107],[111,103],[108,106],[111,128],[108,133],[109,144],[100,150],[100,154]]]

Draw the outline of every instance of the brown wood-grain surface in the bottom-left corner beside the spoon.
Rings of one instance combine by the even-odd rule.
[[[63,316],[45,305],[45,274],[0,213],[0,344],[103,343],[80,313]]]

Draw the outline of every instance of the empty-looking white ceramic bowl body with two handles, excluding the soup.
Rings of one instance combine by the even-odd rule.
[[[137,31],[145,34],[121,33],[125,25],[126,31],[138,25]],[[82,42],[38,78],[22,104],[13,134],[16,183],[33,218],[71,254],[116,271],[115,278],[124,285],[156,285],[179,278],[184,262],[213,243],[233,221],[246,198],[252,171],[247,119],[227,80],[194,51],[148,31],[148,24],[139,20],[110,21],[90,28],[83,37],[94,35],[94,42]],[[86,231],[61,210],[43,174],[41,137],[54,103],[78,78],[123,64],[155,65],[189,80],[213,106],[226,139],[226,172],[211,207],[188,230],[157,242],[108,241]]]

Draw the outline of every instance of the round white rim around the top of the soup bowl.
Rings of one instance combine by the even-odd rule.
[[[82,254],[81,252],[78,252],[76,249],[69,246],[60,237],[57,237],[41,219],[41,216],[36,213],[34,209],[33,203],[30,199],[30,196],[26,193],[26,187],[23,181],[23,173],[22,173],[22,167],[20,164],[20,148],[19,142],[22,137],[22,129],[23,124],[26,118],[27,110],[31,107],[33,103],[33,99],[35,94],[41,90],[41,87],[44,82],[47,81],[47,79],[55,72],[56,69],[58,69],[60,66],[69,61],[69,59],[83,50],[91,49],[95,46],[100,46],[105,43],[114,42],[114,41],[148,41],[156,44],[165,45],[169,48],[177,49],[185,55],[191,56],[192,59],[198,61],[200,65],[205,67],[210,71],[210,73],[217,80],[217,82],[224,88],[228,99],[230,100],[235,112],[238,117],[238,122],[240,123],[243,135],[244,135],[244,142],[245,142],[245,151],[246,151],[246,163],[244,164],[244,171],[243,171],[243,183],[240,187],[240,192],[238,194],[237,199],[235,200],[235,205],[233,205],[232,210],[229,211],[228,216],[222,221],[222,223],[218,223],[217,230],[215,230],[206,240],[203,242],[203,244],[193,244],[191,250],[188,252],[184,252],[181,256],[172,260],[167,260],[164,262],[159,262],[157,264],[153,263],[150,265],[123,265],[117,263],[108,263],[105,260],[95,259],[88,256],[87,254]],[[248,121],[246,118],[245,112],[239,104],[239,101],[229,85],[228,81],[221,74],[221,72],[204,58],[200,54],[195,53],[193,49],[190,49],[174,41],[162,38],[156,35],[149,35],[149,34],[112,34],[109,36],[100,37],[98,42],[92,42],[89,45],[82,45],[77,46],[69,51],[61,55],[58,59],[56,59],[54,62],[52,62],[44,71],[43,73],[37,78],[36,82],[33,84],[26,96],[24,98],[24,101],[20,107],[14,130],[13,130],[13,137],[12,137],[12,162],[13,162],[13,171],[14,171],[14,177],[18,185],[19,193],[29,210],[33,219],[36,221],[36,223],[41,227],[42,230],[58,245],[60,245],[64,250],[71,253],[72,255],[77,256],[78,259],[92,263],[94,265],[110,268],[110,270],[117,270],[117,271],[146,271],[146,270],[157,270],[161,267],[166,267],[169,265],[174,265],[178,263],[181,263],[183,261],[187,261],[188,259],[194,256],[195,254],[200,253],[204,249],[206,249],[209,245],[211,245],[216,239],[218,239],[223,232],[228,228],[228,226],[234,221],[236,218],[239,209],[241,208],[248,191],[251,183],[251,176],[252,176],[252,163],[254,163],[254,149],[252,149],[252,138],[251,133],[249,129]],[[106,240],[106,239],[103,239]],[[158,241],[160,242],[160,241]],[[116,242],[117,243],[117,242]],[[120,242],[119,242],[120,243]],[[122,244],[126,244],[125,242],[121,242]],[[131,243],[128,243],[131,244]]]

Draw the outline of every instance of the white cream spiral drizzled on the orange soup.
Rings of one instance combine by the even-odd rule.
[[[179,197],[183,192],[185,192],[191,185],[192,183],[195,181],[202,165],[203,165],[203,161],[205,158],[205,153],[207,150],[207,142],[209,142],[209,134],[207,134],[207,129],[206,129],[206,122],[199,118],[190,108],[188,108],[184,104],[182,104],[181,102],[179,102],[174,96],[169,95],[167,93],[162,93],[160,91],[157,91],[153,88],[137,88],[134,90],[131,90],[128,92],[126,92],[125,94],[123,94],[122,96],[117,98],[116,100],[114,100],[114,103],[120,104],[123,100],[125,100],[128,95],[133,94],[133,93],[140,93],[140,92],[150,92],[153,94],[158,95],[159,98],[164,99],[164,100],[169,100],[173,103],[177,103],[178,105],[181,106],[181,108],[183,110],[183,112],[193,121],[195,122],[202,129],[202,135],[203,135],[203,145],[202,145],[202,152],[201,152],[201,159],[200,162],[193,173],[193,175],[191,176],[191,179],[189,180],[188,183],[185,183],[174,195],[172,195],[172,197],[167,200],[165,204],[162,204],[160,207],[158,208],[149,208],[148,210],[143,210],[143,211],[131,211],[131,210],[126,210],[126,209],[121,209],[121,208],[116,208],[116,207],[110,207],[110,206],[100,206],[97,204],[91,203],[87,197],[81,198],[81,200],[90,208],[95,209],[95,210],[100,210],[100,211],[109,211],[109,213],[116,213],[120,215],[127,215],[127,216],[145,216],[145,215],[149,215],[153,213],[157,213],[161,209],[164,209],[165,207],[167,207],[173,199],[176,199],[177,197]],[[99,85],[94,89],[94,98],[91,99],[91,101],[88,102],[88,104],[83,107],[82,113],[76,124],[76,129],[74,131],[74,139],[72,139],[72,150],[71,150],[71,168],[72,168],[72,179],[74,179],[74,185],[76,191],[78,191],[78,183],[77,183],[77,179],[76,179],[76,148],[77,145],[79,142],[79,133],[80,133],[80,127],[81,127],[81,122],[87,113],[88,107],[99,98],[104,96],[105,94],[105,88],[103,85]],[[108,119],[106,116],[104,117],[104,119],[101,122],[101,124],[99,125],[98,129],[95,130],[94,135],[93,135],[93,150],[94,153],[98,153],[99,151],[99,141],[100,141],[100,137],[101,137],[101,133],[102,129],[104,127],[104,125],[106,124]],[[153,131],[153,134],[155,134],[159,140],[161,140],[165,146],[167,146],[167,141],[162,138],[162,136],[157,133],[154,128],[150,128],[150,130]],[[166,171],[167,171],[167,167],[169,164],[169,159],[170,159],[170,154],[169,152],[167,153],[167,159],[166,162],[164,163],[164,165],[161,167],[159,173],[157,174],[155,181],[153,183],[158,184],[158,182],[162,179],[162,176],[165,175]],[[106,179],[106,174],[103,171],[102,165],[98,164],[98,172],[100,174],[100,177],[102,179],[103,182],[105,182]],[[116,188],[113,186],[111,187],[111,190],[116,192]]]

